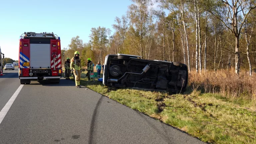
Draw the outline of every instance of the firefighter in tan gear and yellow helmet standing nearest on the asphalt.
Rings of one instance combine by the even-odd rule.
[[[74,70],[76,88],[80,88],[82,66],[78,51],[75,52],[75,56],[71,59],[70,67]]]

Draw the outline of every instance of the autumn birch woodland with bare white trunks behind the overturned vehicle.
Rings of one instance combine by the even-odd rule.
[[[91,40],[79,36],[71,39],[69,49],[62,50],[62,62],[82,56],[82,64],[92,58],[104,63],[107,54],[139,55],[185,63],[189,71],[219,69],[237,74],[256,64],[254,0],[131,0],[122,17],[116,17],[111,31],[105,27],[91,29]]]

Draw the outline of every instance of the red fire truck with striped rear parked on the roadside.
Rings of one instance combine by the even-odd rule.
[[[19,79],[59,83],[62,77],[60,37],[52,33],[25,32],[19,43]]]

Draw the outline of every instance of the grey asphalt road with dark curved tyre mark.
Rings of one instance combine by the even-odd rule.
[[[17,72],[0,76],[0,110],[20,87]],[[87,143],[203,142],[65,79],[24,85],[0,121],[0,144]]]

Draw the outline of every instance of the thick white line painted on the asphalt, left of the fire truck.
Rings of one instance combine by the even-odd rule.
[[[9,101],[5,104],[4,108],[0,111],[0,124],[3,121],[5,115],[7,114],[7,112],[9,111],[9,109],[11,108],[14,100],[16,99],[16,97],[18,96],[18,94],[20,93],[22,87],[24,85],[20,85],[19,88],[15,91],[15,93],[12,95],[12,97],[9,99]]]

